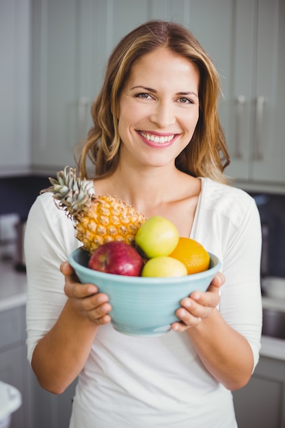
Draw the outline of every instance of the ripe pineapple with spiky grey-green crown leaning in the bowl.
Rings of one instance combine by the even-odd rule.
[[[139,226],[146,220],[133,206],[109,195],[96,196],[89,191],[90,181],[81,180],[76,170],[66,166],[57,172],[57,180],[49,178],[50,191],[60,209],[74,221],[76,237],[92,254],[109,241],[124,241],[133,245]]]

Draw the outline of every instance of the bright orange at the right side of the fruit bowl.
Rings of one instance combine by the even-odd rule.
[[[210,256],[198,241],[180,237],[174,251],[169,257],[176,258],[187,267],[188,275],[206,271],[209,267]]]

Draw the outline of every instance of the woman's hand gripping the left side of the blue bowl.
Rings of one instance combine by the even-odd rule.
[[[67,262],[62,263],[60,271],[66,278],[64,293],[72,302],[72,306],[96,325],[109,323],[111,305],[107,294],[98,293],[98,288],[94,284],[81,284]]]

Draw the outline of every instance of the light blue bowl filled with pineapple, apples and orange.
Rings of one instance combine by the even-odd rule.
[[[148,219],[111,196],[93,196],[88,182],[66,167],[50,179],[55,202],[74,220],[83,244],[68,257],[82,283],[109,296],[120,333],[158,336],[179,321],[180,301],[206,291],[221,261],[193,239],[180,237],[165,217]]]

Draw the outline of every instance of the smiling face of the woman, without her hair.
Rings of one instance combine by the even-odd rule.
[[[118,105],[120,156],[138,166],[174,163],[199,117],[199,72],[188,59],[158,48],[131,70]]]

